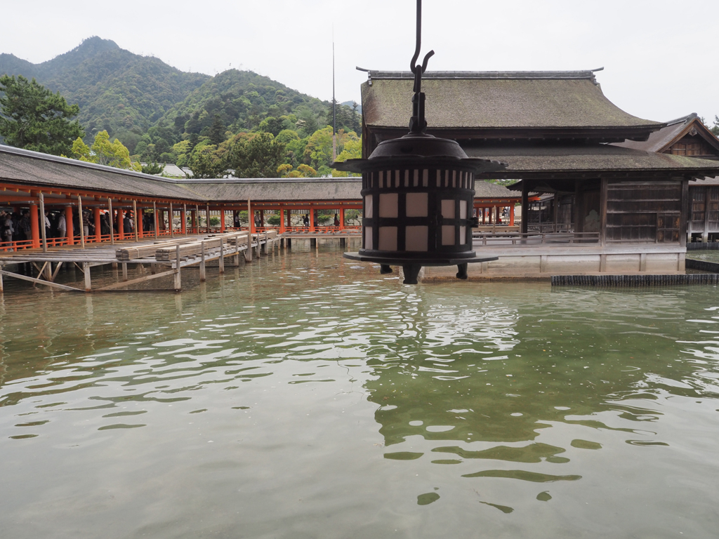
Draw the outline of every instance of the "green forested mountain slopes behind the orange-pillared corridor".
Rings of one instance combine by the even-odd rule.
[[[86,143],[106,131],[135,160],[193,166],[201,154],[210,160],[208,156],[216,151],[221,158],[213,154],[211,160],[221,167],[219,161],[228,160],[232,153],[226,149],[228,144],[221,146],[224,142],[232,141],[229,145],[234,147],[252,134],[267,133],[278,137],[286,149],[285,164],[308,165],[318,174],[329,170],[331,151],[326,150],[325,128],[332,123],[331,103],[252,71],[231,69],[214,77],[184,73],[155,57],[136,55],[113,41],[91,37],[40,64],[1,54],[0,75],[4,74],[35,78],[50,91],[59,91],[68,103],[78,103]],[[338,103],[338,131],[359,133],[360,126],[357,103]],[[354,134],[340,137],[338,154],[344,141],[356,138]],[[318,147],[323,148],[321,152]]]

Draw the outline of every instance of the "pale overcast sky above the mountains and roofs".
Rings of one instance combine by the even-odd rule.
[[[253,70],[322,99],[359,101],[375,70],[408,70],[414,0],[14,1],[0,52],[40,63],[92,35],[180,70]],[[719,114],[719,0],[424,0],[429,70],[585,70],[621,109],[667,121]],[[690,9],[684,9],[687,6]]]

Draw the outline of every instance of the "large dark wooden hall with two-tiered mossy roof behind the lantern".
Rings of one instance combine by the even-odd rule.
[[[406,134],[412,85],[412,73],[368,72],[364,157]],[[492,247],[500,260],[482,272],[684,272],[689,183],[719,174],[719,162],[687,157],[711,154],[703,126],[684,133],[632,116],[605,97],[592,71],[428,72],[422,89],[429,134],[508,163],[491,176],[519,180],[525,236]],[[669,128],[682,134],[669,152],[629,147],[664,140]],[[528,193],[542,195],[539,213]]]

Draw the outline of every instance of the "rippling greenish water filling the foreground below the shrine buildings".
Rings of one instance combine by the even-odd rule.
[[[384,277],[11,283],[0,537],[716,537],[715,287]]]

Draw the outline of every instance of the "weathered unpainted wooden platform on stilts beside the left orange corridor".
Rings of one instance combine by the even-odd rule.
[[[225,234],[204,234],[193,236],[175,236],[173,239],[150,239],[144,241],[123,241],[112,244],[86,244],[79,246],[51,247],[47,252],[41,249],[25,249],[20,252],[0,254],[0,294],[4,292],[3,277],[14,277],[26,280],[35,285],[47,285],[58,290],[69,292],[102,292],[117,290],[159,277],[173,275],[173,288],[182,288],[181,270],[197,266],[200,280],[206,279],[207,262],[217,261],[219,272],[224,272],[225,259],[232,257],[235,265],[239,264],[242,254],[246,262],[260,252],[267,254],[268,248],[279,246],[280,236],[275,231],[252,234],[247,231],[234,231]],[[37,270],[37,277],[29,277],[16,272],[9,272],[7,266],[13,264],[30,264]],[[78,288],[61,285],[55,282],[63,264],[74,264],[84,275],[84,287]],[[91,268],[114,264],[122,266],[122,280],[100,288],[92,288]],[[137,279],[128,280],[129,264],[139,265],[141,273],[150,266],[150,273]],[[160,271],[157,271],[160,270]]]

